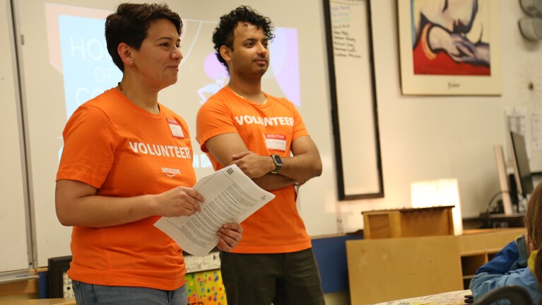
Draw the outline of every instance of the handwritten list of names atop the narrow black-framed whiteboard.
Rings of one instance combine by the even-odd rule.
[[[353,13],[352,6],[363,4],[361,0],[332,1],[331,31],[333,36],[333,48],[335,57],[360,58],[358,41],[362,39],[357,28],[353,28],[351,22],[358,16]]]

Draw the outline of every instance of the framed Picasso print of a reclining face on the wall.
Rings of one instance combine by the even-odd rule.
[[[398,0],[397,7],[403,94],[501,94],[499,1]]]

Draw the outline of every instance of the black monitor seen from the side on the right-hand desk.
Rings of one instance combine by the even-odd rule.
[[[524,197],[531,194],[534,190],[533,176],[529,167],[529,157],[527,157],[527,149],[525,138],[517,132],[510,132],[512,144],[512,166],[514,167],[514,180],[517,192]]]

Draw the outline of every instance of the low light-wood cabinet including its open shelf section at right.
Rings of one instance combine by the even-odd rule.
[[[351,304],[468,289],[478,267],[525,229],[346,241]]]

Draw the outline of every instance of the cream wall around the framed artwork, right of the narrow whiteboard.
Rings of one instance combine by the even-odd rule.
[[[500,8],[502,96],[401,96],[396,0],[372,1],[385,197],[341,202],[345,231],[363,227],[362,211],[410,207],[413,181],[457,178],[464,217],[485,211],[499,191],[493,145],[506,144],[504,108],[542,105],[542,42],[519,33],[519,1],[500,0]],[[542,154],[531,154],[531,171],[541,170]]]

